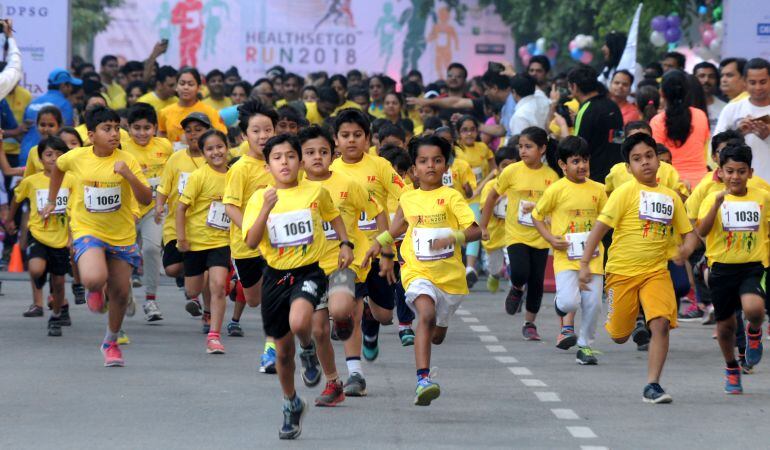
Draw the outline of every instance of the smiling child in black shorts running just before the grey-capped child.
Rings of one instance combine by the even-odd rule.
[[[230,273],[230,217],[222,196],[227,173],[227,136],[208,130],[198,139],[206,164],[190,175],[176,207],[177,247],[184,258],[184,288],[188,299],[204,290],[208,272],[211,326],[206,353],[224,354],[220,330],[227,309],[225,289]]]

